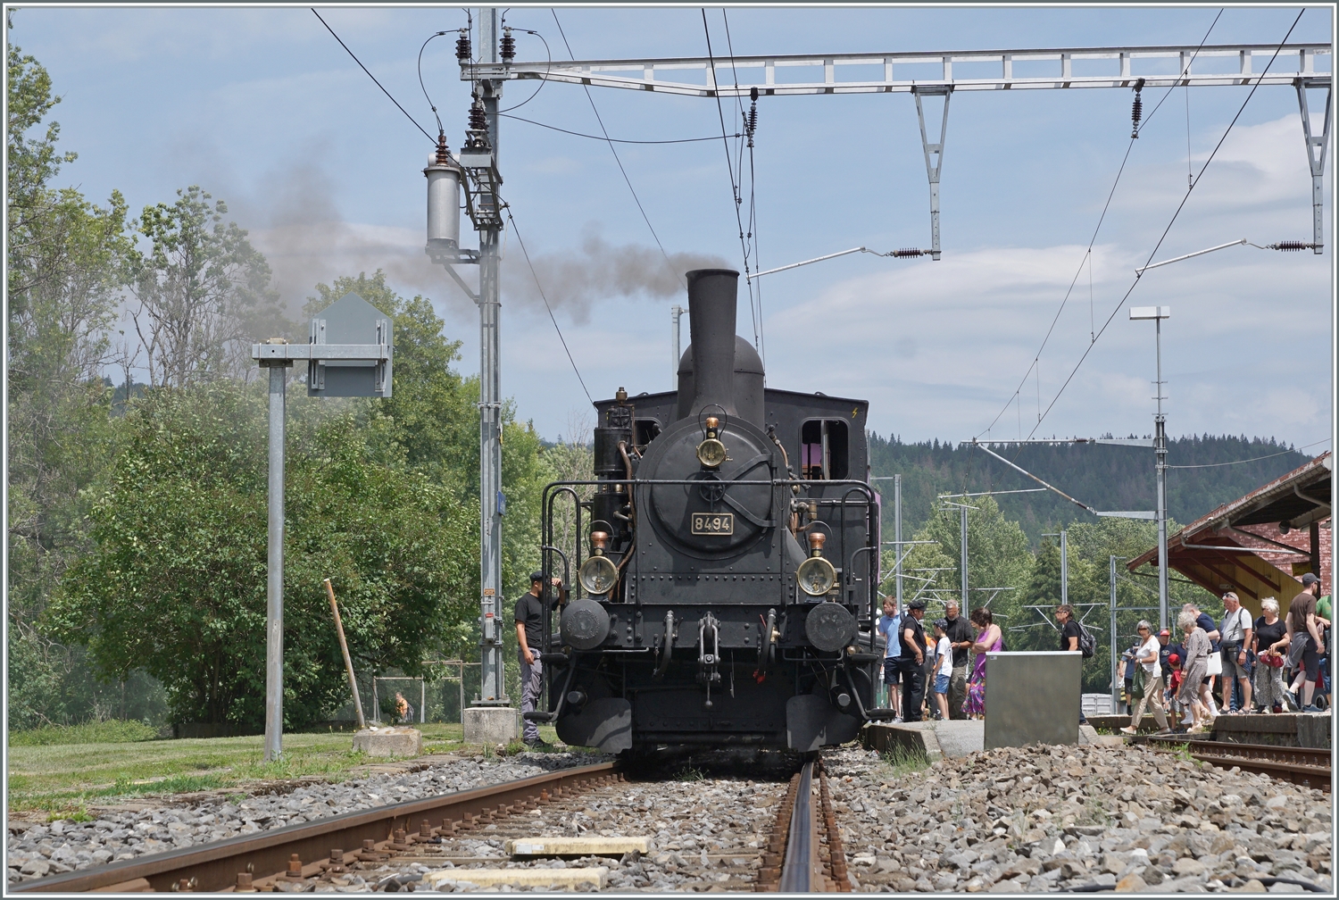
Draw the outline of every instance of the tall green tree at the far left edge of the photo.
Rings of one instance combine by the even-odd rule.
[[[75,159],[56,150],[56,122],[42,127],[60,98],[13,44],[7,88],[8,719],[27,727],[106,708],[82,648],[43,633],[40,617],[66,567],[88,548],[84,492],[111,458],[100,368],[133,241],[121,194],[98,206],[51,185]]]

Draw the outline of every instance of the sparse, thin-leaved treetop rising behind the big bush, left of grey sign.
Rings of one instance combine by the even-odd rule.
[[[248,344],[292,331],[269,287],[269,264],[228,205],[191,185],[175,204],[145,206],[147,254],[133,261],[131,309],[151,386],[186,387],[254,371]]]

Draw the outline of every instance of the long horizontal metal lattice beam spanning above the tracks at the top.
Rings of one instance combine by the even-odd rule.
[[[1331,54],[1328,43],[1281,48],[1212,44],[475,63],[462,66],[461,78],[540,79],[708,98],[747,96],[754,87],[763,96],[911,94],[931,86],[953,91],[1133,87],[1139,78],[1145,87],[1182,87],[1253,83],[1260,78],[1257,70],[1275,52],[1279,59],[1261,83],[1292,84],[1302,79],[1320,87],[1328,82],[1330,74],[1315,67],[1318,56]],[[814,70],[821,70],[819,79],[809,76]],[[872,78],[874,71],[880,74]],[[690,72],[700,72],[700,80],[674,80]],[[798,78],[787,80],[787,74]]]

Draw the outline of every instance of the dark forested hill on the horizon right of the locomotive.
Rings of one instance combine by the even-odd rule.
[[[991,449],[1097,509],[1138,510],[1154,506],[1153,450],[1149,447],[994,445]],[[1170,466],[1202,466],[1239,459],[1255,462],[1172,469],[1168,473],[1168,514],[1177,522],[1194,521],[1218,504],[1236,500],[1312,458],[1312,454],[1299,453],[1275,438],[1192,435],[1170,439]],[[869,462],[872,475],[902,475],[904,540],[909,540],[929,518],[936,494],[1040,486],[971,445],[955,446],[939,441],[902,443],[896,435],[882,438],[870,433]],[[893,485],[889,481],[876,483],[884,496],[884,540],[890,540]],[[1004,494],[995,500],[1007,518],[1022,525],[1034,546],[1040,542],[1043,532],[1052,532],[1073,521],[1094,521],[1090,513],[1054,492]]]

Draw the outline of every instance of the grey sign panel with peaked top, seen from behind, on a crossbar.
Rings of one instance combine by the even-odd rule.
[[[391,338],[391,317],[356,293],[345,293],[325,307],[311,324],[307,395],[388,398]],[[335,359],[323,352],[321,344],[364,346],[378,352]]]

